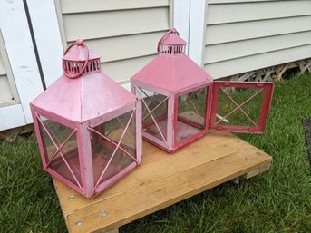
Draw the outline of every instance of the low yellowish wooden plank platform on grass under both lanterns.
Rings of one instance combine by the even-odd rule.
[[[141,165],[95,199],[54,186],[69,232],[118,232],[135,219],[228,180],[268,170],[271,157],[230,133],[211,132],[170,155],[144,141]]]

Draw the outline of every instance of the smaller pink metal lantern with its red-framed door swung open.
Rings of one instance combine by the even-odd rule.
[[[142,102],[144,139],[174,152],[210,129],[262,132],[274,83],[214,82],[185,48],[171,29],[160,39],[158,56],[131,77],[131,92]],[[259,108],[248,110],[249,116],[245,109],[251,101]]]

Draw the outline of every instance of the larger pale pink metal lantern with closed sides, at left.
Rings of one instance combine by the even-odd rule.
[[[101,72],[100,56],[81,40],[31,110],[44,170],[86,198],[141,162],[141,102]]]

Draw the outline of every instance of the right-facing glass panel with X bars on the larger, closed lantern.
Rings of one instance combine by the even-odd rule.
[[[113,152],[117,149],[120,140],[120,146],[116,150],[111,163],[104,172],[100,183],[112,178],[121,170],[128,167],[134,161],[131,156],[136,158],[135,121],[134,117],[131,115],[132,111],[122,114],[111,121],[106,121],[101,125],[96,126],[94,130],[98,133],[94,131],[91,132],[92,162],[95,183],[101,178],[102,171],[106,169],[106,166],[109,160],[111,160]],[[123,138],[121,139],[122,135]]]

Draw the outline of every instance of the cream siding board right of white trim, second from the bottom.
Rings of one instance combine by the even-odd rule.
[[[310,38],[311,31],[307,31],[296,34],[280,34],[225,44],[208,45],[205,47],[204,63],[217,63],[258,53],[268,53],[306,45],[310,44]]]

